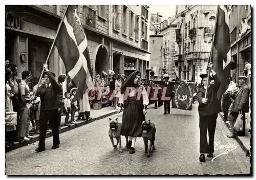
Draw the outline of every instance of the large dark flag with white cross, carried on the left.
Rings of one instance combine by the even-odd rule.
[[[67,7],[55,43],[68,75],[77,86],[73,102],[94,86],[87,38],[77,11],[78,6]]]

